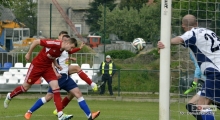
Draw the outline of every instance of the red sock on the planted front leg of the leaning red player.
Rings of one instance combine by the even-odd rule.
[[[62,111],[62,98],[60,96],[60,89],[55,89],[53,90],[53,100],[55,103],[55,106],[57,108],[57,112]]]

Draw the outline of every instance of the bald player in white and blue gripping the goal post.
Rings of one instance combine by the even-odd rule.
[[[215,32],[199,28],[195,16],[190,14],[183,17],[182,27],[185,33],[172,38],[171,44],[182,44],[190,48],[206,76],[196,105],[188,104],[187,109],[197,120],[214,120],[214,114],[207,105],[220,103],[220,39]],[[159,49],[165,48],[161,41],[158,41],[157,46]]]

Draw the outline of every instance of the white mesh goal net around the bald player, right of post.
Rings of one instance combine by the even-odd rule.
[[[166,2],[167,0],[162,0],[161,2],[162,12]],[[172,0],[172,15],[170,18],[172,26],[171,37],[179,36],[184,33],[181,25],[182,17],[186,14],[194,15],[197,18],[199,27],[208,28],[214,31],[217,36],[220,36],[219,2],[219,0]],[[163,15],[163,13],[161,15]],[[167,24],[163,16],[161,16],[161,21],[161,26]],[[161,30],[163,29],[161,28]],[[167,33],[167,31],[164,32]],[[163,31],[161,31],[161,34],[162,33]],[[182,45],[170,46],[170,48],[170,101],[166,103],[170,104],[169,118],[170,120],[195,120],[191,113],[187,112],[185,106],[199,90],[199,87],[203,84],[203,79],[199,79],[197,89],[192,90],[188,94],[184,94],[194,80],[195,65],[190,59],[189,49],[184,48]],[[160,82],[161,81],[162,80],[160,80]],[[162,87],[165,86],[160,86],[160,89],[163,90]],[[178,100],[175,101],[173,98],[178,98]],[[160,99],[163,101],[162,98]],[[162,111],[161,109],[162,108],[160,108],[160,112]],[[215,119],[220,119],[220,113],[218,111],[215,112]],[[161,114],[160,120],[165,120],[161,117]]]

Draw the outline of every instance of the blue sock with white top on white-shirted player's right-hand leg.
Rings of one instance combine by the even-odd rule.
[[[86,114],[86,116],[89,118],[91,116],[91,112],[90,109],[88,107],[88,105],[86,104],[86,101],[84,100],[83,97],[80,97],[77,99],[80,108],[84,111],[84,113]]]

